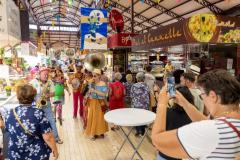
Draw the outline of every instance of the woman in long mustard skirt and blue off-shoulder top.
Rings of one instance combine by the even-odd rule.
[[[88,116],[85,133],[92,136],[92,140],[104,138],[104,133],[108,131],[108,124],[104,120],[104,110],[102,109],[108,89],[106,83],[100,79],[101,70],[95,69],[93,71],[94,82],[90,85],[89,97],[86,102]]]

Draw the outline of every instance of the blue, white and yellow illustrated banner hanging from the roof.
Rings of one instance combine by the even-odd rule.
[[[81,49],[107,49],[107,10],[81,8]]]

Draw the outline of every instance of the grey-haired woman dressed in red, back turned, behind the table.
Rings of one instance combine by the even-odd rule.
[[[109,84],[109,109],[119,109],[124,107],[125,87],[120,82],[122,75],[120,72],[114,74],[115,82]],[[111,128],[117,129],[116,126]]]

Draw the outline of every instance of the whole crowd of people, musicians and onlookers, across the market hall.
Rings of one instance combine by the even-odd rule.
[[[73,97],[72,117],[79,115],[85,135],[93,141],[103,139],[109,131],[105,112],[132,107],[157,115],[152,141],[159,151],[158,160],[236,157],[240,142],[239,82],[224,70],[200,76],[191,71],[177,74],[169,63],[160,86],[151,70],[147,66],[145,73],[134,75],[130,71],[122,74],[114,67],[111,79],[104,69],[90,72],[80,65],[70,65],[64,71],[39,67],[29,84],[17,88],[19,106],[2,113],[4,123],[0,124],[8,133],[5,157],[44,160],[49,159],[50,152],[58,157],[56,143],[63,141],[56,122],[64,123],[64,90]],[[175,75],[176,96],[170,98],[167,78]],[[136,126],[135,136],[143,136],[145,128]]]

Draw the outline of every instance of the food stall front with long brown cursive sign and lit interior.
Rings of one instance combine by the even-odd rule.
[[[201,73],[222,68],[237,75],[239,27],[236,17],[198,14],[134,37],[132,51],[156,51],[159,61],[170,60],[176,69],[194,64]]]

